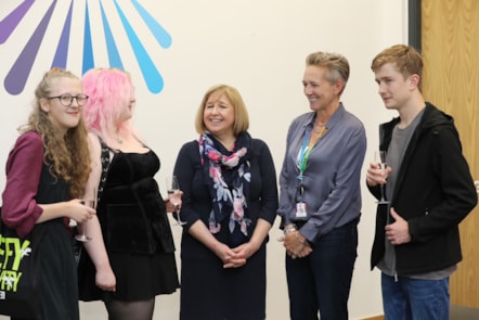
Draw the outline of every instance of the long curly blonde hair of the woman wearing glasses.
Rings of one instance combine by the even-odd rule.
[[[50,172],[68,183],[72,197],[81,197],[91,171],[88,131],[83,116],[80,117],[78,126],[68,129],[65,135],[52,126],[48,113],[40,106],[40,100],[50,97],[54,78],[80,80],[65,69],[53,68],[47,72],[35,90],[34,111],[27,124],[18,128],[18,131],[36,131],[40,135],[44,145],[43,162],[49,166]]]

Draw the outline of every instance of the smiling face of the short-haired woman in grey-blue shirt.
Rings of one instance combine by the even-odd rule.
[[[306,67],[302,86],[310,108],[313,111],[336,107],[339,103],[339,93],[344,87],[339,80],[331,84],[327,80],[327,68],[315,65]]]

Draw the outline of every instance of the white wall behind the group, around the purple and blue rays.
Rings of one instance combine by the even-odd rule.
[[[21,2],[1,1],[0,22]],[[407,1],[141,1],[171,35],[172,44],[168,49],[160,48],[154,40],[130,1],[118,2],[165,81],[161,92],[155,94],[147,90],[113,1],[101,1],[107,9],[113,33],[120,41],[119,51],[125,68],[132,73],[137,85],[135,124],[161,159],[161,172],[158,175],[160,185],[164,172],[172,170],[181,144],[196,139],[193,120],[203,93],[219,82],[232,85],[243,94],[250,114],[250,132],[270,145],[279,172],[287,127],[296,115],[309,110],[302,94],[301,79],[305,57],[313,51],[339,52],[350,62],[351,77],[342,102],[366,127],[368,149],[365,171],[378,144],[378,124],[393,116],[383,106],[370,65],[374,55],[384,48],[407,41]],[[80,75],[85,3],[74,3],[67,68]],[[95,65],[107,67],[99,4],[88,3],[92,17]],[[12,95],[3,86],[0,88],[1,166],[17,137],[15,128],[26,120],[30,111],[35,86],[42,73],[50,68],[68,4],[69,1],[57,4],[25,90]],[[28,12],[8,41],[0,43],[2,84],[49,5],[48,1],[35,1],[35,10]],[[2,174],[0,190],[3,190],[4,181]],[[374,213],[374,200],[363,188],[359,257],[349,304],[351,319],[383,312],[379,273],[370,271],[368,267]],[[179,247],[179,227],[173,227],[173,231]],[[280,234],[275,226],[271,231],[268,253],[267,312],[268,319],[275,320],[288,319],[284,249],[275,240]],[[159,297],[156,315],[161,315],[163,319],[176,319],[178,300],[179,294]],[[82,304],[83,312],[90,315],[90,306]]]

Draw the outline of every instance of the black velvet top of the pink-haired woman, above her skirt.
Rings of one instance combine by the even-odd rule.
[[[153,151],[144,154],[117,152],[96,214],[106,248],[112,252],[174,252],[165,202],[154,176],[159,158]]]

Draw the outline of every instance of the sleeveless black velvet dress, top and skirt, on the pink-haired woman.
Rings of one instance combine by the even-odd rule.
[[[154,179],[158,170],[159,158],[153,151],[115,151],[96,214],[116,292],[106,294],[96,287],[94,267],[83,253],[78,270],[81,300],[145,300],[179,287],[171,229]]]

